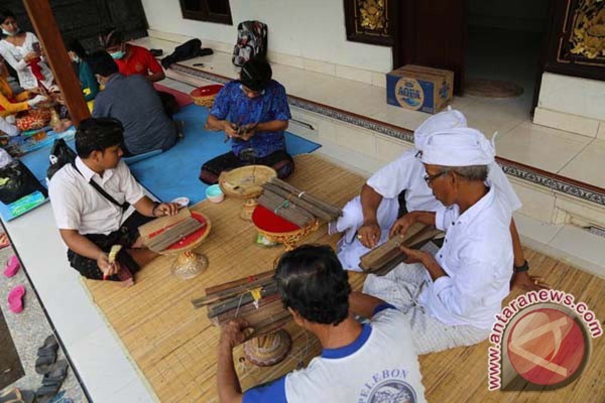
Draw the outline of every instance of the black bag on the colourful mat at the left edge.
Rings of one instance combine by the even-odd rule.
[[[0,168],[0,201],[2,203],[11,204],[23,196],[31,195],[36,190],[39,190],[45,198],[48,197],[46,188],[21,161],[13,160]]]

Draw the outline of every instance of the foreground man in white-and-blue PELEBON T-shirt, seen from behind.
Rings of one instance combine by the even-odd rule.
[[[303,245],[285,253],[275,280],[296,323],[319,339],[321,356],[306,369],[241,393],[232,349],[244,340],[246,323],[232,321],[218,346],[221,403],[426,402],[405,314],[370,295],[350,294],[332,248]],[[370,323],[360,324],[353,313]]]

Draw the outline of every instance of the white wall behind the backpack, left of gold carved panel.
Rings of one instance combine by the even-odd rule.
[[[230,0],[234,25],[183,19],[178,0],[142,0],[149,28],[235,44],[237,24],[269,26],[269,51],[386,73],[391,48],[348,42],[341,0]]]

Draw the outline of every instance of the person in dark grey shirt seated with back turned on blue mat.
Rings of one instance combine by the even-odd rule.
[[[122,122],[126,156],[174,146],[177,127],[145,77],[123,76],[104,50],[90,54],[87,62],[99,83],[105,85],[94,101],[93,117],[112,117]]]

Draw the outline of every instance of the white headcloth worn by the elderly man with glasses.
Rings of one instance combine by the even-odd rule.
[[[454,127],[427,136],[422,162],[446,167],[489,165],[495,161],[495,136],[489,141],[476,129]]]

